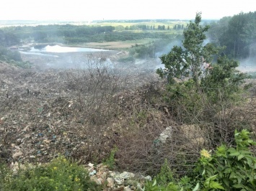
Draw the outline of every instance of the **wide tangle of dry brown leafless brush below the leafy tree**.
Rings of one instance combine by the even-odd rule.
[[[201,149],[213,150],[224,142],[234,144],[235,129],[252,129],[255,124],[252,107],[224,100],[212,105],[205,97],[188,93],[197,105],[188,110],[184,101],[164,103],[162,90],[145,87],[123,98],[121,106],[130,113],[124,117],[126,121],[120,121],[123,131],[116,140],[120,169],[156,174],[167,159],[174,172],[187,174]],[[162,142],[159,136],[168,127],[172,131]]]

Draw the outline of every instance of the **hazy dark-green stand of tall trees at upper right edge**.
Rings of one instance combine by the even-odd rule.
[[[208,36],[225,46],[225,55],[236,59],[255,55],[256,11],[224,17],[211,24]]]

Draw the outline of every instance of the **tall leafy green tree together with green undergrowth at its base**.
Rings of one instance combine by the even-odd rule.
[[[215,47],[206,40],[209,26],[200,25],[200,13],[196,14],[195,22],[190,22],[183,32],[183,47],[173,47],[167,55],[160,59],[164,69],[159,68],[156,73],[161,78],[167,78],[167,101],[173,111],[179,115],[199,113],[215,107],[212,116],[218,113],[224,101],[236,101],[242,92],[241,85],[247,75],[239,73],[236,67],[239,63],[227,57],[218,57],[222,47]],[[217,62],[213,62],[213,58]],[[200,116],[206,118],[206,116]],[[190,118],[190,116],[188,117]],[[182,118],[184,120],[184,118]]]

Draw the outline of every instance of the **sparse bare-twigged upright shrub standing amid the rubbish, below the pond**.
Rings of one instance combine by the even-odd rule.
[[[74,108],[78,110],[76,131],[84,139],[73,157],[84,162],[99,162],[110,151],[112,136],[109,127],[117,115],[120,77],[108,67],[107,59],[87,57],[87,68],[69,70],[66,88],[76,95]]]

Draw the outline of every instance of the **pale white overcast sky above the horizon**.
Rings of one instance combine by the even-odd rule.
[[[256,0],[1,0],[0,20],[221,19],[256,11]]]

